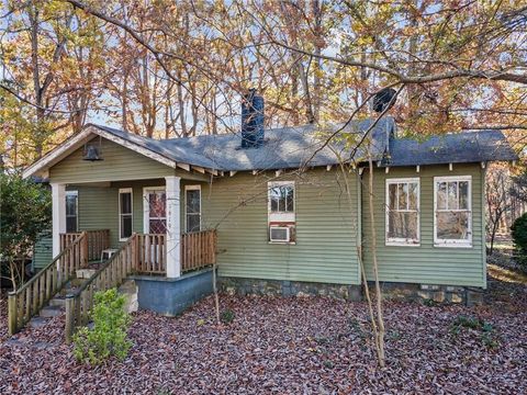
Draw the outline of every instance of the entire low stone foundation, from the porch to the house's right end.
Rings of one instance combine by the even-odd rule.
[[[362,300],[361,285],[242,278],[218,278],[217,282],[220,290],[231,295],[329,296],[347,301]],[[474,287],[384,282],[381,283],[381,289],[386,300],[468,306],[483,303],[483,290]],[[370,290],[374,292],[373,284],[370,284]]]

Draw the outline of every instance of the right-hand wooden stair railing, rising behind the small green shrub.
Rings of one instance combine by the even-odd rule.
[[[66,342],[71,341],[77,327],[89,321],[93,294],[121,285],[127,275],[136,271],[137,240],[138,235],[133,234],[88,281],[66,296]]]

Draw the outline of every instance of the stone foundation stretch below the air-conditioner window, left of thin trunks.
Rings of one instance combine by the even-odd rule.
[[[231,295],[329,296],[347,301],[362,298],[360,285],[240,278],[218,278],[217,281],[220,289]]]

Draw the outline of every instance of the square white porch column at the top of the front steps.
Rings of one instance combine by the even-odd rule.
[[[165,177],[167,198],[167,278],[181,275],[181,212],[179,177]]]

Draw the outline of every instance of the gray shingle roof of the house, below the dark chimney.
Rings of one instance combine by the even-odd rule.
[[[371,120],[354,122],[345,131],[360,136],[371,124]],[[314,125],[267,129],[266,143],[259,148],[248,149],[240,148],[239,134],[157,140],[108,126],[94,126],[168,159],[215,170],[243,171],[336,165],[338,158],[335,153],[341,158],[351,159],[351,151],[341,143],[332,142],[327,147],[323,146],[326,137],[338,126],[327,127],[326,132],[321,132]],[[393,131],[394,122],[391,117],[380,120],[371,131],[373,156],[375,160],[380,160],[389,148],[389,166],[517,159],[500,131],[449,134],[423,142],[390,137]],[[358,150],[354,159],[360,160],[363,154],[363,150]]]

